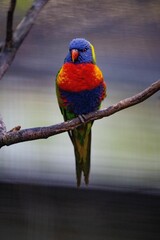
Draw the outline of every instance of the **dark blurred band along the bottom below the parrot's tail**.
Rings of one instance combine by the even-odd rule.
[[[159,240],[154,194],[1,184],[0,195],[3,240]]]

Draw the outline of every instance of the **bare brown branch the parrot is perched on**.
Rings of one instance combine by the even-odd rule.
[[[102,109],[96,112],[89,113],[85,115],[85,122],[90,122],[93,120],[98,120],[103,117],[108,117],[118,111],[125,108],[131,107],[133,105],[139,104],[145,101],[147,98],[151,97],[153,94],[160,90],[160,80],[154,82],[151,86],[146,88],[144,91],[120,102]],[[74,118],[71,121],[59,123],[48,127],[36,127],[30,129],[19,130],[20,127],[15,127],[11,131],[6,132],[5,125],[0,119],[0,148],[3,146],[12,145],[19,142],[31,141],[36,139],[45,139],[56,134],[60,134],[69,130],[72,130],[80,126],[82,122],[79,118]],[[4,129],[3,129],[4,126]]]

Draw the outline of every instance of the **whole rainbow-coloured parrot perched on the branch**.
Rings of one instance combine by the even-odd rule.
[[[75,38],[70,42],[69,52],[56,76],[56,91],[65,121],[100,108],[106,96],[106,84],[89,41]],[[89,182],[92,125],[93,121],[68,131],[75,152],[77,186],[81,184],[82,173],[85,183]]]

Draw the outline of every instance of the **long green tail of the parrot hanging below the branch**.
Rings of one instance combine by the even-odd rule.
[[[93,122],[83,124],[69,132],[75,152],[78,187],[81,185],[82,173],[84,175],[85,184],[87,185],[89,183],[92,124]]]

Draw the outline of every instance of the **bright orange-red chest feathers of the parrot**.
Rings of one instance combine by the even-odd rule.
[[[103,75],[94,64],[65,63],[57,76],[57,85],[63,90],[78,92],[91,90],[103,82]]]

